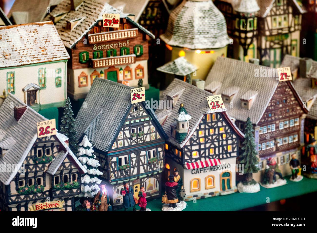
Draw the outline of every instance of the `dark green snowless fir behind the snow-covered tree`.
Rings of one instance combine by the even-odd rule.
[[[73,152],[78,150],[78,138],[76,137],[77,131],[74,130],[75,127],[75,119],[73,117],[74,113],[72,110],[72,106],[70,103],[70,99],[66,99],[65,108],[64,108],[64,116],[61,118],[60,125],[60,133],[66,135],[69,139],[69,147]]]

